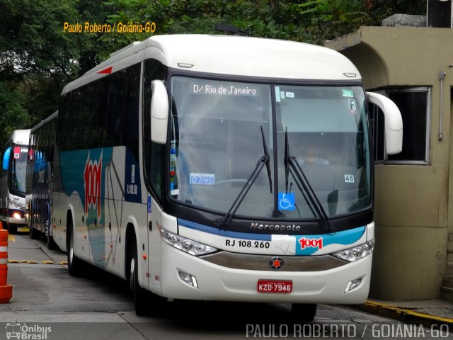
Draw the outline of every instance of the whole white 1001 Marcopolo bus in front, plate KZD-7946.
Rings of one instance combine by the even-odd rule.
[[[288,302],[302,321],[365,302],[369,102],[401,151],[398,108],[333,50],[161,35],[113,53],[62,91],[53,213],[69,273],[125,278],[137,314],[163,298]]]

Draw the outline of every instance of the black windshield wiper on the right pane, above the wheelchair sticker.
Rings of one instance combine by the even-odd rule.
[[[299,162],[297,162],[296,157],[292,157],[289,154],[289,142],[288,142],[288,128],[285,130],[285,191],[288,193],[288,178],[289,173],[294,177],[296,180],[296,184],[299,187],[299,190],[302,192],[302,195],[306,199],[307,203],[309,203],[309,207],[311,212],[314,215],[318,215],[319,219],[322,222],[323,229],[331,232],[332,227],[331,223],[328,219],[328,215],[326,214],[326,210],[324,210],[323,205],[319,201],[318,197],[316,196],[315,191],[311,188],[310,182],[306,179],[304,171],[302,170]],[[303,188],[303,190],[302,190]],[[306,195],[304,194],[306,193]],[[308,199],[307,199],[308,198]]]

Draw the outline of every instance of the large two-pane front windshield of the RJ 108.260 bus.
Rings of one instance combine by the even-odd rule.
[[[278,210],[292,220],[320,218],[313,196],[328,217],[370,207],[369,138],[361,86],[178,76],[171,79],[171,98],[168,185],[173,199],[228,212],[264,156],[264,142],[271,176],[260,171],[236,215],[268,218]],[[302,169],[309,188],[294,173],[297,166],[289,169],[285,157]]]

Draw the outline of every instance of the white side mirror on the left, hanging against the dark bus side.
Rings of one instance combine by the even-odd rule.
[[[167,142],[168,94],[164,82],[151,81],[151,141],[158,144]]]

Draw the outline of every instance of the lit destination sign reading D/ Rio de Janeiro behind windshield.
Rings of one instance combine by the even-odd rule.
[[[215,96],[260,96],[260,87],[255,84],[226,83],[220,81],[190,82],[190,92],[193,94],[210,94]]]

